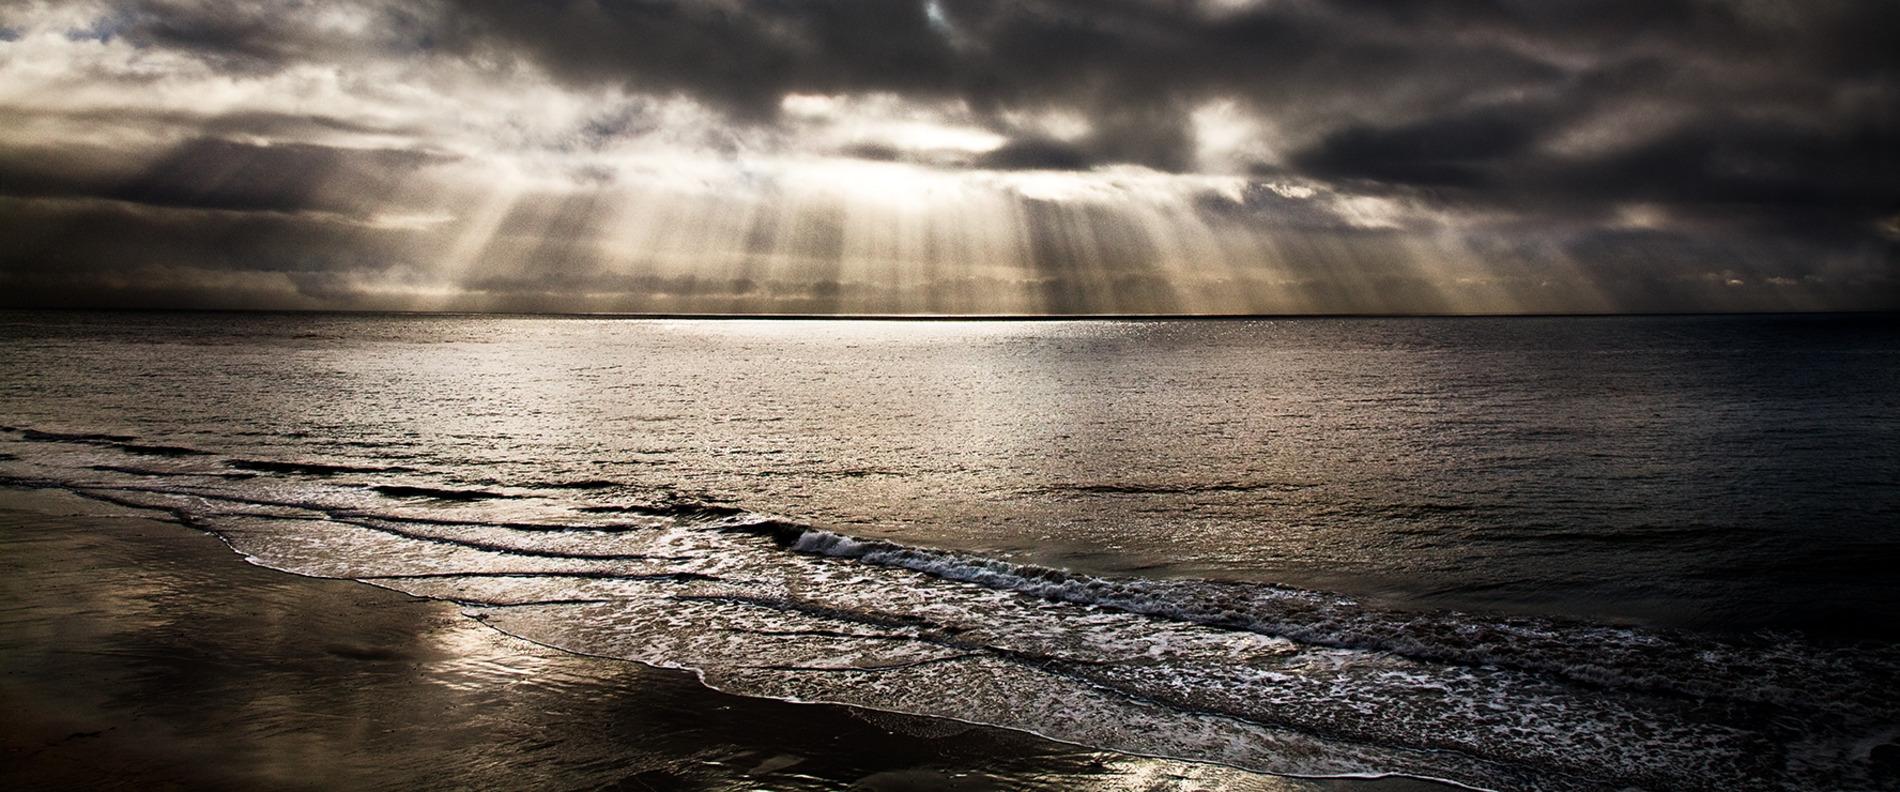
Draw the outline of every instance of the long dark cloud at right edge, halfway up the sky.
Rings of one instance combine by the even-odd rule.
[[[1550,129],[1550,116],[1526,108],[1351,125],[1300,152],[1294,163],[1302,173],[1370,190],[1429,190],[1448,201],[1566,215],[1651,203],[1704,218],[1721,209],[1748,224],[1799,218],[1872,232],[1900,211],[1894,131],[1875,120],[1814,127],[1712,112],[1585,156],[1537,150]]]

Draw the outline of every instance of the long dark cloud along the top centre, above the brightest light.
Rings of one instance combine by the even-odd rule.
[[[1193,103],[1241,97],[1419,104],[1550,80],[1558,68],[1492,42],[1391,40],[1324,8],[1210,15],[1180,2],[452,4],[445,46],[524,53],[580,84],[682,91],[745,120],[787,93],[889,91],[992,114],[1072,108],[1092,122],[1058,163],[1189,167]],[[1328,99],[1328,95],[1338,99]],[[1302,112],[1303,114],[1303,112]],[[1022,146],[1045,141],[1034,133]],[[1005,156],[1007,160],[1007,156]],[[1022,158],[1036,165],[1045,156]]]

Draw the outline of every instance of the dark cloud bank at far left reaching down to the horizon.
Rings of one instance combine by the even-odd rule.
[[[256,114],[205,127],[306,122]],[[422,150],[211,137],[156,156],[0,146],[0,291],[11,304],[352,306],[365,277],[412,268],[439,247],[369,220],[445,161]]]

